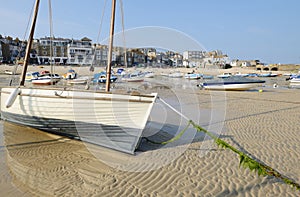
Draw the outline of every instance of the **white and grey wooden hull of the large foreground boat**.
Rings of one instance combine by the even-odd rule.
[[[133,154],[156,94],[21,88],[11,107],[5,102],[15,88],[1,90],[4,120]]]

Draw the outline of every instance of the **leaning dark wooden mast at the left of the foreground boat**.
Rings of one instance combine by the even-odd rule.
[[[26,76],[26,72],[27,72],[28,62],[30,59],[30,49],[31,49],[31,45],[33,42],[33,35],[34,35],[34,29],[35,29],[39,5],[40,5],[40,0],[36,0],[35,6],[34,6],[34,15],[33,15],[32,23],[31,23],[30,34],[29,34],[28,43],[26,46],[26,53],[25,53],[25,59],[24,59],[24,63],[23,63],[22,75],[21,75],[21,79],[20,79],[20,86],[24,86],[24,84],[25,84],[25,76]]]

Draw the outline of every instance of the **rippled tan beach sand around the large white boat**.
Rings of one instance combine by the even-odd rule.
[[[74,69],[90,74],[88,68]],[[133,86],[158,92],[189,119],[300,183],[300,90],[272,83],[262,92],[206,91],[194,81],[164,78]],[[165,141],[186,125],[157,101],[144,136]],[[167,145],[144,139],[136,155],[128,155],[1,121],[0,158],[4,196],[300,196],[276,178],[239,167],[236,154],[192,127]]]

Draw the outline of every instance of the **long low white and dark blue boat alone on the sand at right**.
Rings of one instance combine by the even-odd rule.
[[[265,81],[248,79],[245,77],[228,77],[201,83],[199,87],[207,90],[248,90],[263,83],[265,83]]]

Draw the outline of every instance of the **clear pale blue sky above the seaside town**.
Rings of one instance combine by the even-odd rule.
[[[51,2],[55,37],[88,37],[98,43],[107,38],[110,0],[106,6],[105,0]],[[0,34],[27,39],[33,4],[34,0],[0,0]],[[156,39],[154,47],[168,40],[170,46],[157,47],[172,49],[172,42],[182,49],[199,49],[187,39],[207,51],[221,50],[231,59],[300,63],[299,0],[123,0],[122,4],[125,38],[129,32],[136,41],[139,37]],[[123,35],[120,5],[117,0],[115,32]],[[49,32],[48,0],[41,0],[35,38],[49,36]]]

